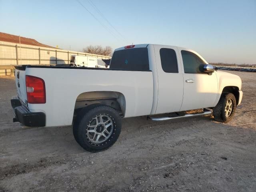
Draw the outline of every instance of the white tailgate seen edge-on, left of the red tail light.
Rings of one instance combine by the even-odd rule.
[[[20,100],[26,104],[27,92],[26,92],[26,74],[25,70],[15,70],[15,84]]]

